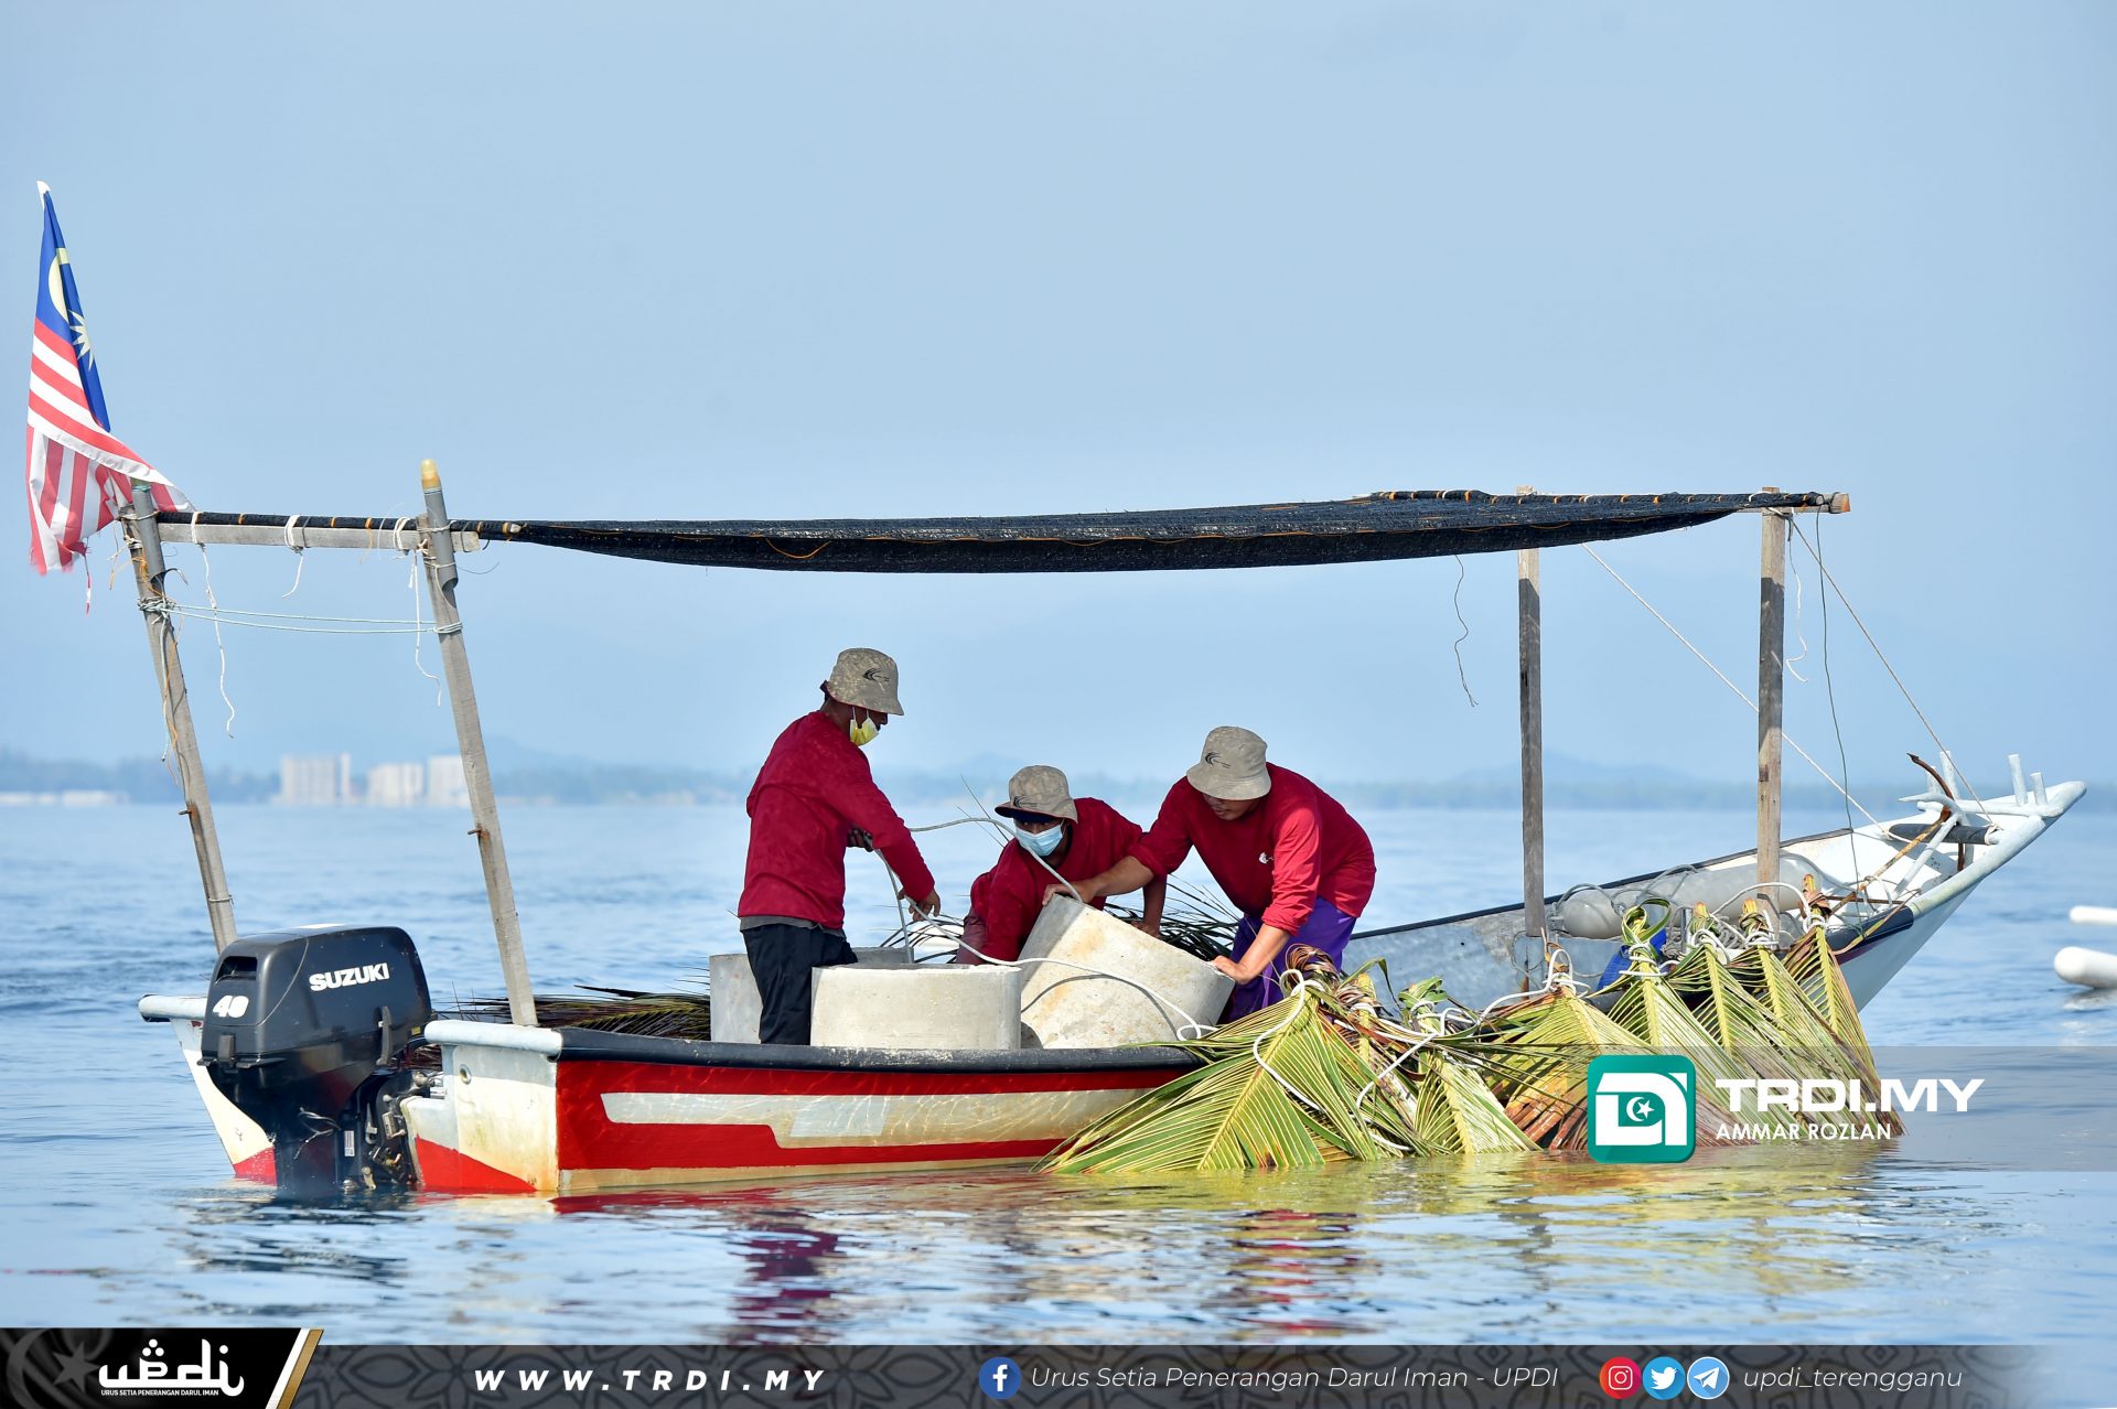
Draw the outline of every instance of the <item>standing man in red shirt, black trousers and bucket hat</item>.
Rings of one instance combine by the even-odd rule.
[[[895,660],[838,652],[824,707],[779,734],[749,787],[749,861],[735,914],[764,1003],[758,1041],[807,1045],[815,971],[853,963],[847,846],[883,853],[912,910],[940,910],[934,874],[862,753],[902,713]]]

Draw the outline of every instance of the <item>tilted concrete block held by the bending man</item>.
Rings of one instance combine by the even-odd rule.
[[[1213,965],[1065,895],[1044,905],[1023,965],[1023,1022],[1044,1047],[1166,1043],[1186,1020],[1219,1022],[1234,992]]]

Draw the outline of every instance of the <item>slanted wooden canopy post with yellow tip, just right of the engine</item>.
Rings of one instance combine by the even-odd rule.
[[[508,986],[508,1020],[519,1028],[533,1028],[536,994],[529,986],[529,958],[523,954],[521,914],[514,910],[514,878],[508,876],[508,850],[500,840],[500,802],[493,798],[493,770],[485,762],[485,728],[478,724],[478,694],[470,685],[470,654],[464,649],[464,614],[455,607],[455,535],[449,533],[449,508],[440,497],[440,472],[434,468],[434,461],[419,463],[419,482],[426,491],[426,518],[419,535],[426,552],[426,592],[434,603],[434,635],[440,639],[440,673],[449,681],[455,747],[464,755],[464,789],[470,793],[470,836],[478,838],[478,861],[485,865],[485,899],[493,908],[500,973]]]

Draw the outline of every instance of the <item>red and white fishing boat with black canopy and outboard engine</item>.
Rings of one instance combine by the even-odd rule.
[[[533,544],[644,561],[773,571],[1268,569],[1514,552],[1520,582],[1522,861],[1516,903],[1370,927],[1349,958],[1440,975],[1490,1003],[1590,971],[1620,950],[1615,916],[1641,895],[1717,912],[1747,905],[1789,933],[1823,925],[1865,1003],[1992,872],[2070,808],[2013,762],[1984,800],[1943,753],[1914,810],[1780,838],[1785,552],[1797,514],[1844,495],[1488,495],[1399,491],[1327,504],[1014,518],[792,523],[455,520],[432,463],[417,518],[210,514],[133,497],[127,535],[163,692],[171,755],[216,941],[205,992],[155,994],[231,1166],[282,1187],[582,1193],[798,1174],[976,1168],[1048,1155],[1196,1062],[1179,1047],[900,1051],[760,1047],[544,1026],[529,986],[497,802],[457,609],[455,554]],[[1763,523],[1757,846],[1653,876],[1548,893],[1541,789],[1539,552],[1664,533],[1732,514]],[[398,548],[426,563],[428,599],[506,986],[506,1022],[436,1015],[398,925],[239,935],[220,865],[165,592],[163,544]],[[1850,802],[1850,793],[1848,793]],[[497,1013],[495,1013],[497,1018]]]

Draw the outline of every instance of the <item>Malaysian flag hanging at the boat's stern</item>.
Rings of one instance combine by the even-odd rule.
[[[191,506],[110,434],[51,186],[38,182],[36,193],[44,201],[44,254],[36,262],[36,336],[30,343],[30,565],[49,573],[72,567],[89,550],[89,537],[131,504],[133,480],[152,489],[157,508]]]

